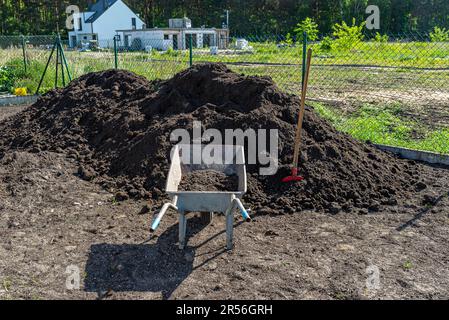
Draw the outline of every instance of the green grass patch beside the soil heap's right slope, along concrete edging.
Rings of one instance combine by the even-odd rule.
[[[322,103],[310,103],[315,111],[338,130],[361,141],[449,154],[449,128],[431,129],[401,117],[400,104],[362,105],[358,111],[342,114]]]

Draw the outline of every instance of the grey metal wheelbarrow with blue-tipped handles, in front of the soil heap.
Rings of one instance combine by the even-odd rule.
[[[186,212],[201,212],[207,215],[224,213],[226,216],[226,248],[233,247],[234,210],[239,209],[243,219],[247,222],[251,218],[241,202],[246,193],[246,167],[243,146],[219,145],[214,146],[218,154],[216,159],[221,161],[204,161],[201,156],[204,146],[176,145],[172,150],[170,171],[167,177],[165,191],[171,202],[165,203],[151,224],[151,232],[155,232],[160,221],[168,209],[179,213],[179,249],[184,249],[186,242]],[[210,162],[210,163],[209,163]],[[217,163],[219,162],[219,163]],[[214,170],[226,175],[238,177],[238,190],[235,191],[178,191],[183,175],[194,170]]]

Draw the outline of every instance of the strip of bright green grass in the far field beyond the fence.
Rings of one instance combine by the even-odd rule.
[[[301,64],[302,46],[278,47],[273,42],[250,42],[251,52],[226,50],[224,55],[212,56],[206,49],[195,49],[197,60],[213,62],[247,62],[272,64]],[[349,50],[323,50],[319,43],[311,44],[315,65],[370,65],[395,68],[448,68],[449,42],[361,42]],[[174,54],[173,54],[174,53]],[[154,58],[171,60],[177,52],[154,51]],[[184,54],[187,56],[187,52]]]

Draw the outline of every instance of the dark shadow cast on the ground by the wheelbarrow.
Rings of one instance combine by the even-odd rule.
[[[187,239],[204,227],[199,218],[190,218]],[[160,235],[156,244],[92,245],[86,263],[84,290],[98,293],[100,299],[107,297],[111,291],[162,292],[162,298],[169,299],[195,269],[193,261],[196,249],[223,232],[198,246],[186,246],[184,250],[179,250],[177,246],[178,224]],[[217,251],[207,262],[224,252],[224,249]]]

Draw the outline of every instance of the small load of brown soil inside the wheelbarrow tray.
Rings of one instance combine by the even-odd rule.
[[[179,191],[238,191],[236,175],[216,170],[194,170],[182,176]]]

